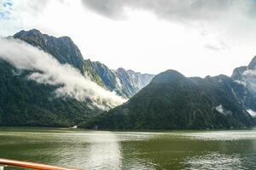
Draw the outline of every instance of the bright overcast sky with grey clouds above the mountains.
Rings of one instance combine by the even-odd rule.
[[[111,69],[229,75],[256,55],[254,0],[0,0],[0,36],[73,39]]]

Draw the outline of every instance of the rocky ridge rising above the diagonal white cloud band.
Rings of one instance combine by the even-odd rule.
[[[62,64],[73,65],[91,81],[127,99],[146,86],[154,77],[154,75],[124,69],[112,71],[98,61],[84,60],[79,48],[70,37],[52,37],[36,29],[20,31],[14,37],[42,48]]]

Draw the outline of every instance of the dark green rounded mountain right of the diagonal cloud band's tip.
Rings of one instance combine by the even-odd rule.
[[[230,77],[184,77],[165,71],[125,104],[98,116],[88,127],[110,129],[195,129],[253,126]]]

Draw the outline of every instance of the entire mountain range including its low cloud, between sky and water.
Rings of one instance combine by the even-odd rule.
[[[256,59],[232,77],[157,76],[84,59],[69,37],[0,39],[0,124],[114,129],[253,126]]]

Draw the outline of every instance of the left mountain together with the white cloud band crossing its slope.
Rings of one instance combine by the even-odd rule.
[[[2,125],[79,124],[139,90],[129,86],[137,91],[125,94],[120,87],[127,84],[119,85],[115,71],[84,60],[69,37],[51,37],[34,29],[1,38],[0,44]]]

